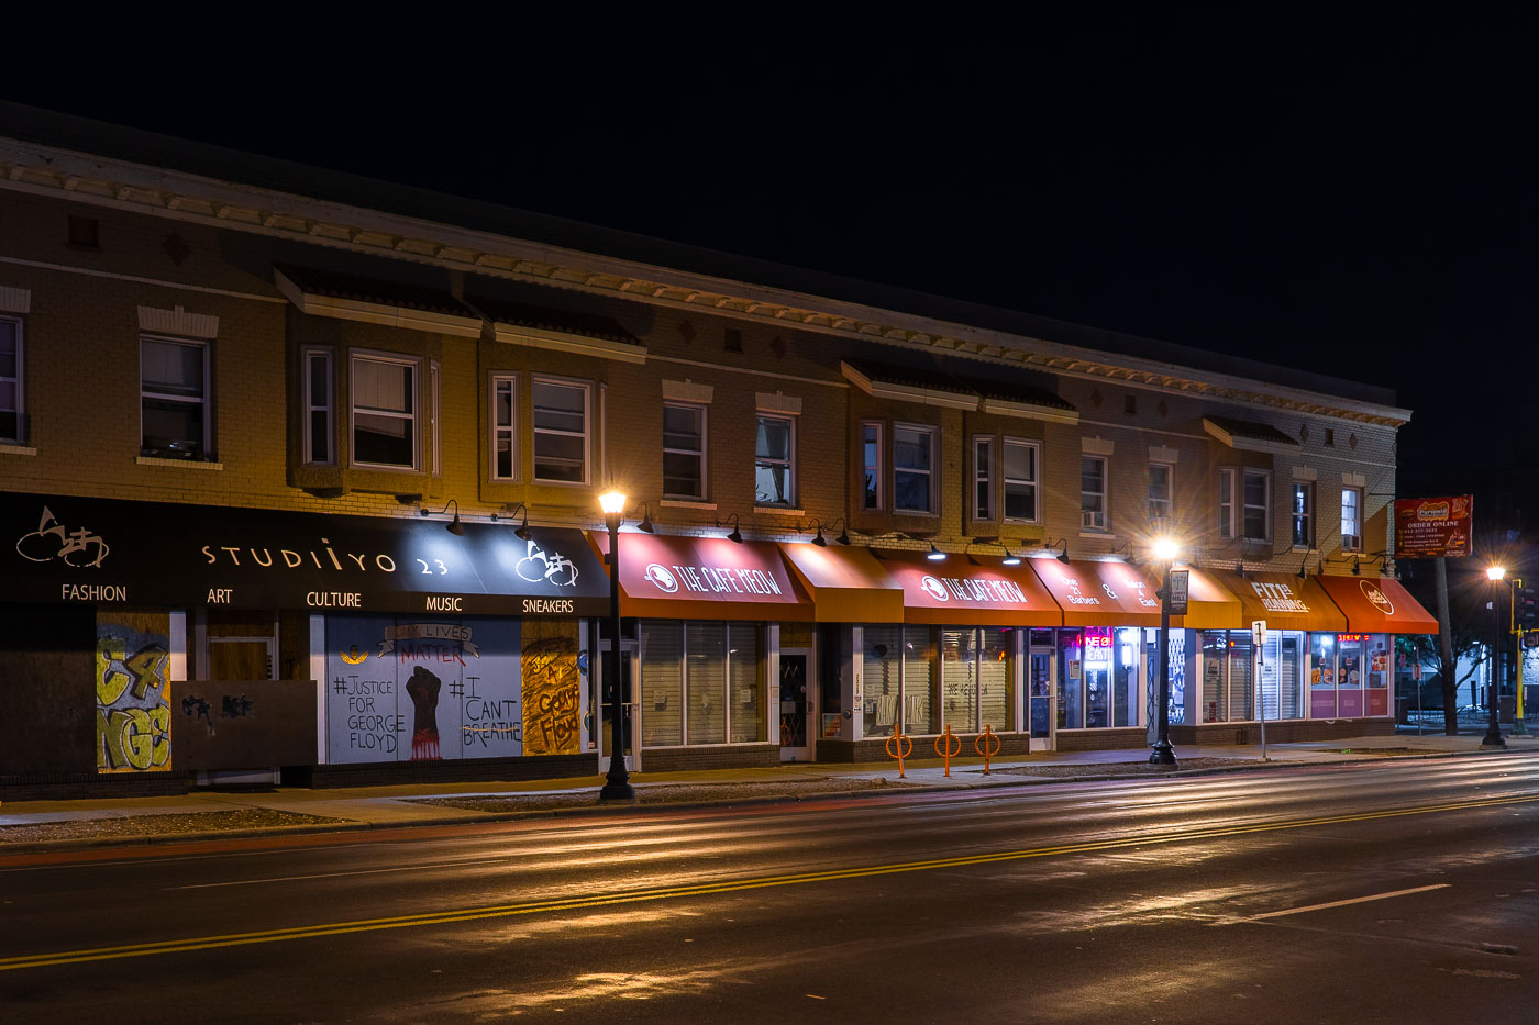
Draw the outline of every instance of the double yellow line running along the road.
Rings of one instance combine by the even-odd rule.
[[[263,930],[255,933],[194,936],[186,939],[160,940],[157,943],[125,943],[119,947],[97,947],[91,950],[57,951],[51,954],[22,954],[17,957],[0,959],[0,971],[15,971],[20,968],[46,968],[49,965],[74,965],[92,960],[115,960],[120,957],[148,957],[151,954],[175,954],[195,950],[212,950],[219,947],[277,943],[283,940],[314,939],[320,936],[340,936],[345,933],[371,933],[377,930],[399,930],[399,928],[412,928],[423,925],[448,925],[454,922],[474,922],[479,919],[503,919],[520,914],[579,911],[585,908],[602,908],[620,903],[645,903],[645,902],[668,900],[676,897],[703,897],[719,893],[736,893],[740,890],[766,890],[770,886],[794,886],[802,883],[834,882],[842,879],[894,876],[899,873],[919,873],[937,868],[962,868],[968,865],[990,865],[996,862],[1014,862],[1033,857],[1053,857],[1057,854],[1088,854],[1096,851],[1114,851],[1133,846],[1150,846],[1156,843],[1190,843],[1193,840],[1211,840],[1230,836],[1244,836],[1248,833],[1280,833],[1285,830],[1307,830],[1310,826],[1339,825],[1344,822],[1371,822],[1376,819],[1399,819],[1407,816],[1427,816],[1447,811],[1468,811],[1471,808],[1499,808],[1502,805],[1524,805],[1534,802],[1539,802],[1539,794],[1517,794],[1511,797],[1488,797],[1484,800],[1464,800],[1444,805],[1425,805],[1420,808],[1393,808],[1387,811],[1364,811],[1364,813],[1342,814],[1342,816],[1319,816],[1313,819],[1253,822],[1244,825],[1213,826],[1205,830],[1187,830],[1180,833],[1122,837],[1116,840],[1062,843],[1057,846],[1037,846],[1019,851],[994,851],[991,854],[963,854],[957,857],[937,857],[922,862],[897,862],[891,865],[866,865],[860,868],[834,868],[816,873],[759,876],[754,879],[728,879],[711,883],[693,883],[686,886],[659,886],[656,890],[596,894],[591,897],[559,897],[549,900],[529,900],[523,903],[502,903],[502,905],[489,905],[480,908],[457,908],[448,911],[406,914],[406,916],[383,917],[383,919],[359,919],[354,922],[299,925],[285,930]]]

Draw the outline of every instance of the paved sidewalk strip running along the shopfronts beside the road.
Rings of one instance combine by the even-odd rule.
[[[1482,751],[1481,734],[1457,737],[1399,734],[1333,742],[1177,746],[1176,774],[1264,771],[1274,765],[1431,757]],[[1539,754],[1539,737],[1507,737],[1507,751]],[[742,805],[913,790],[1031,786],[1087,779],[1145,779],[1153,770],[1143,750],[1054,751],[993,763],[959,759],[950,779],[939,759],[897,765],[790,763],[774,768],[637,773],[642,802],[659,806]],[[337,833],[414,825],[497,822],[529,816],[613,814],[628,806],[597,803],[600,774],[580,779],[477,782],[349,790],[222,790],[174,797],[22,800],[0,806],[0,853],[163,843],[269,834]]]

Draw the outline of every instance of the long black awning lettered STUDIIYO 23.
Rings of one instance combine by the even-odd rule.
[[[606,616],[580,531],[69,496],[0,497],[3,599],[140,608]]]

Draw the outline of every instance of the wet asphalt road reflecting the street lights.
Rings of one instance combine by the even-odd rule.
[[[1536,1022],[1524,754],[0,857],[0,1020]]]

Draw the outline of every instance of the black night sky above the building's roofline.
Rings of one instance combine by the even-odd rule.
[[[1402,494],[1539,465],[1534,17],[528,6],[8,12],[0,94],[1388,385]]]

